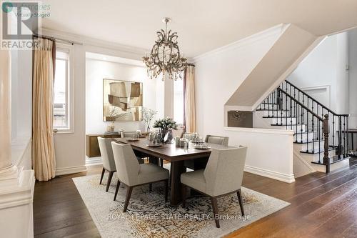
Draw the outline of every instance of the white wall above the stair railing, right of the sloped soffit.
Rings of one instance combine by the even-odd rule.
[[[326,37],[287,78],[301,89],[326,87],[326,106],[338,114],[348,114],[347,36],[345,32]]]

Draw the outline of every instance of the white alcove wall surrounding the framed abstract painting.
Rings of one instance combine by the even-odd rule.
[[[103,79],[143,83],[143,105],[156,109],[156,79],[149,79],[144,66],[86,59],[86,134],[101,134],[111,122],[103,122]],[[116,130],[145,130],[143,122],[115,122]]]

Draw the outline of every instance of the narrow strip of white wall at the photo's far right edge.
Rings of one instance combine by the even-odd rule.
[[[350,128],[357,129],[357,29],[348,31],[348,51]]]

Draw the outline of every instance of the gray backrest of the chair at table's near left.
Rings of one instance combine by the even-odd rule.
[[[140,165],[131,145],[111,142],[111,147],[113,147],[118,179],[128,186],[136,185]]]

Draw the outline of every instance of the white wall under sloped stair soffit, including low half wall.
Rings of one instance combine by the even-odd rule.
[[[270,34],[243,45],[238,42],[238,46],[196,59],[196,124],[201,135],[223,135],[229,137],[230,145],[248,146],[246,171],[293,182],[291,132],[224,128],[224,104],[278,36]]]

